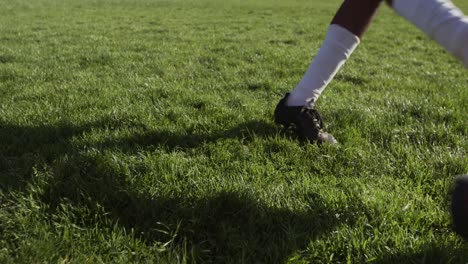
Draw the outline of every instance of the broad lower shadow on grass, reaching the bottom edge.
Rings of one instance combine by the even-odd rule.
[[[150,195],[134,189],[114,164],[98,154],[65,159],[53,175],[42,198],[52,214],[63,202],[88,208],[91,215],[102,214],[100,208],[104,208],[110,222],[127,232],[134,230],[146,244],[172,241],[169,249],[188,254],[189,262],[284,263],[344,217],[353,224],[355,212],[365,210],[356,202],[334,211],[314,193],[305,194],[309,208],[304,210],[268,205],[245,190],[205,197],[174,192]],[[78,226],[100,224],[95,219],[80,221]]]

